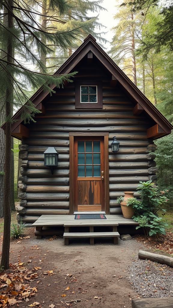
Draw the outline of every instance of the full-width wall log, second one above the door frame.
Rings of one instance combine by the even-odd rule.
[[[109,123],[109,124],[108,124]],[[96,119],[90,120],[85,119],[81,120],[80,117],[78,119],[43,119],[38,118],[35,125],[59,125],[59,126],[74,126],[74,127],[88,127],[88,126],[96,126],[96,127],[103,127],[107,125],[119,126],[119,125],[149,125],[148,120],[142,119]],[[28,143],[26,143],[28,144]]]

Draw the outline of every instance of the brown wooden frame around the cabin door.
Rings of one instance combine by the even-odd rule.
[[[105,180],[104,180],[104,190],[105,190],[105,213],[110,214],[109,208],[109,133],[101,132],[101,133],[83,133],[83,132],[70,132],[69,133],[69,153],[70,153],[70,171],[69,171],[69,214],[74,214],[74,137],[94,137],[94,136],[102,136],[104,137],[104,163],[105,163]]]

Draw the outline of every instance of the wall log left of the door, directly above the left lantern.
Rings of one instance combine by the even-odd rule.
[[[27,143],[28,145],[41,145],[48,148],[51,147],[69,147],[69,140],[61,140],[61,139],[23,139],[22,142]]]

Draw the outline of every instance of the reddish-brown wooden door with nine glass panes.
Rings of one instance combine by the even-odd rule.
[[[74,138],[74,211],[105,211],[104,137]]]

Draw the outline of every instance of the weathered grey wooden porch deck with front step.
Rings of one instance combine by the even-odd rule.
[[[72,237],[89,237],[90,244],[94,244],[94,237],[113,237],[114,244],[118,244],[117,232],[119,225],[139,225],[133,219],[124,218],[123,215],[105,215],[107,219],[74,219],[75,215],[42,215],[37,221],[33,223],[33,227],[36,227],[35,235],[37,239],[40,239],[46,234],[46,230],[43,227],[64,227],[64,243],[69,244],[69,238]],[[70,232],[70,227],[89,227],[89,232]],[[94,227],[110,227],[110,232],[94,232]],[[45,232],[44,232],[45,231]],[[54,231],[52,230],[51,235]],[[91,234],[92,233],[92,234]],[[111,235],[110,235],[111,234]]]

